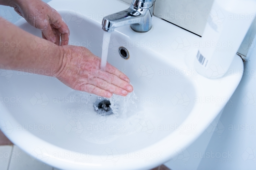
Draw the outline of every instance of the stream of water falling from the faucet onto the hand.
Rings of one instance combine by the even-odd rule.
[[[110,32],[104,31],[103,41],[102,41],[102,54],[101,54],[101,69],[104,71],[106,69],[106,64],[107,64],[110,36],[111,36]]]

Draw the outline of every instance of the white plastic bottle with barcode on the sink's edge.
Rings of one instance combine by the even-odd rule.
[[[256,14],[255,0],[215,0],[201,40],[196,71],[218,79],[227,73]]]

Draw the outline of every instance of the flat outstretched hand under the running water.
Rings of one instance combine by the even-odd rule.
[[[133,91],[125,74],[109,63],[105,71],[101,70],[101,59],[87,48],[67,45],[61,49],[63,60],[55,76],[67,86],[107,98],[110,98],[112,93],[126,96]]]

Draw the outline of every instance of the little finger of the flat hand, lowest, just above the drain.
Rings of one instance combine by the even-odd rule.
[[[110,98],[112,96],[111,92],[109,92],[107,90],[103,90],[103,89],[96,87],[92,84],[83,84],[78,88],[78,90],[86,91],[88,93],[93,93],[95,95],[98,95],[101,97],[106,97],[106,98]]]

